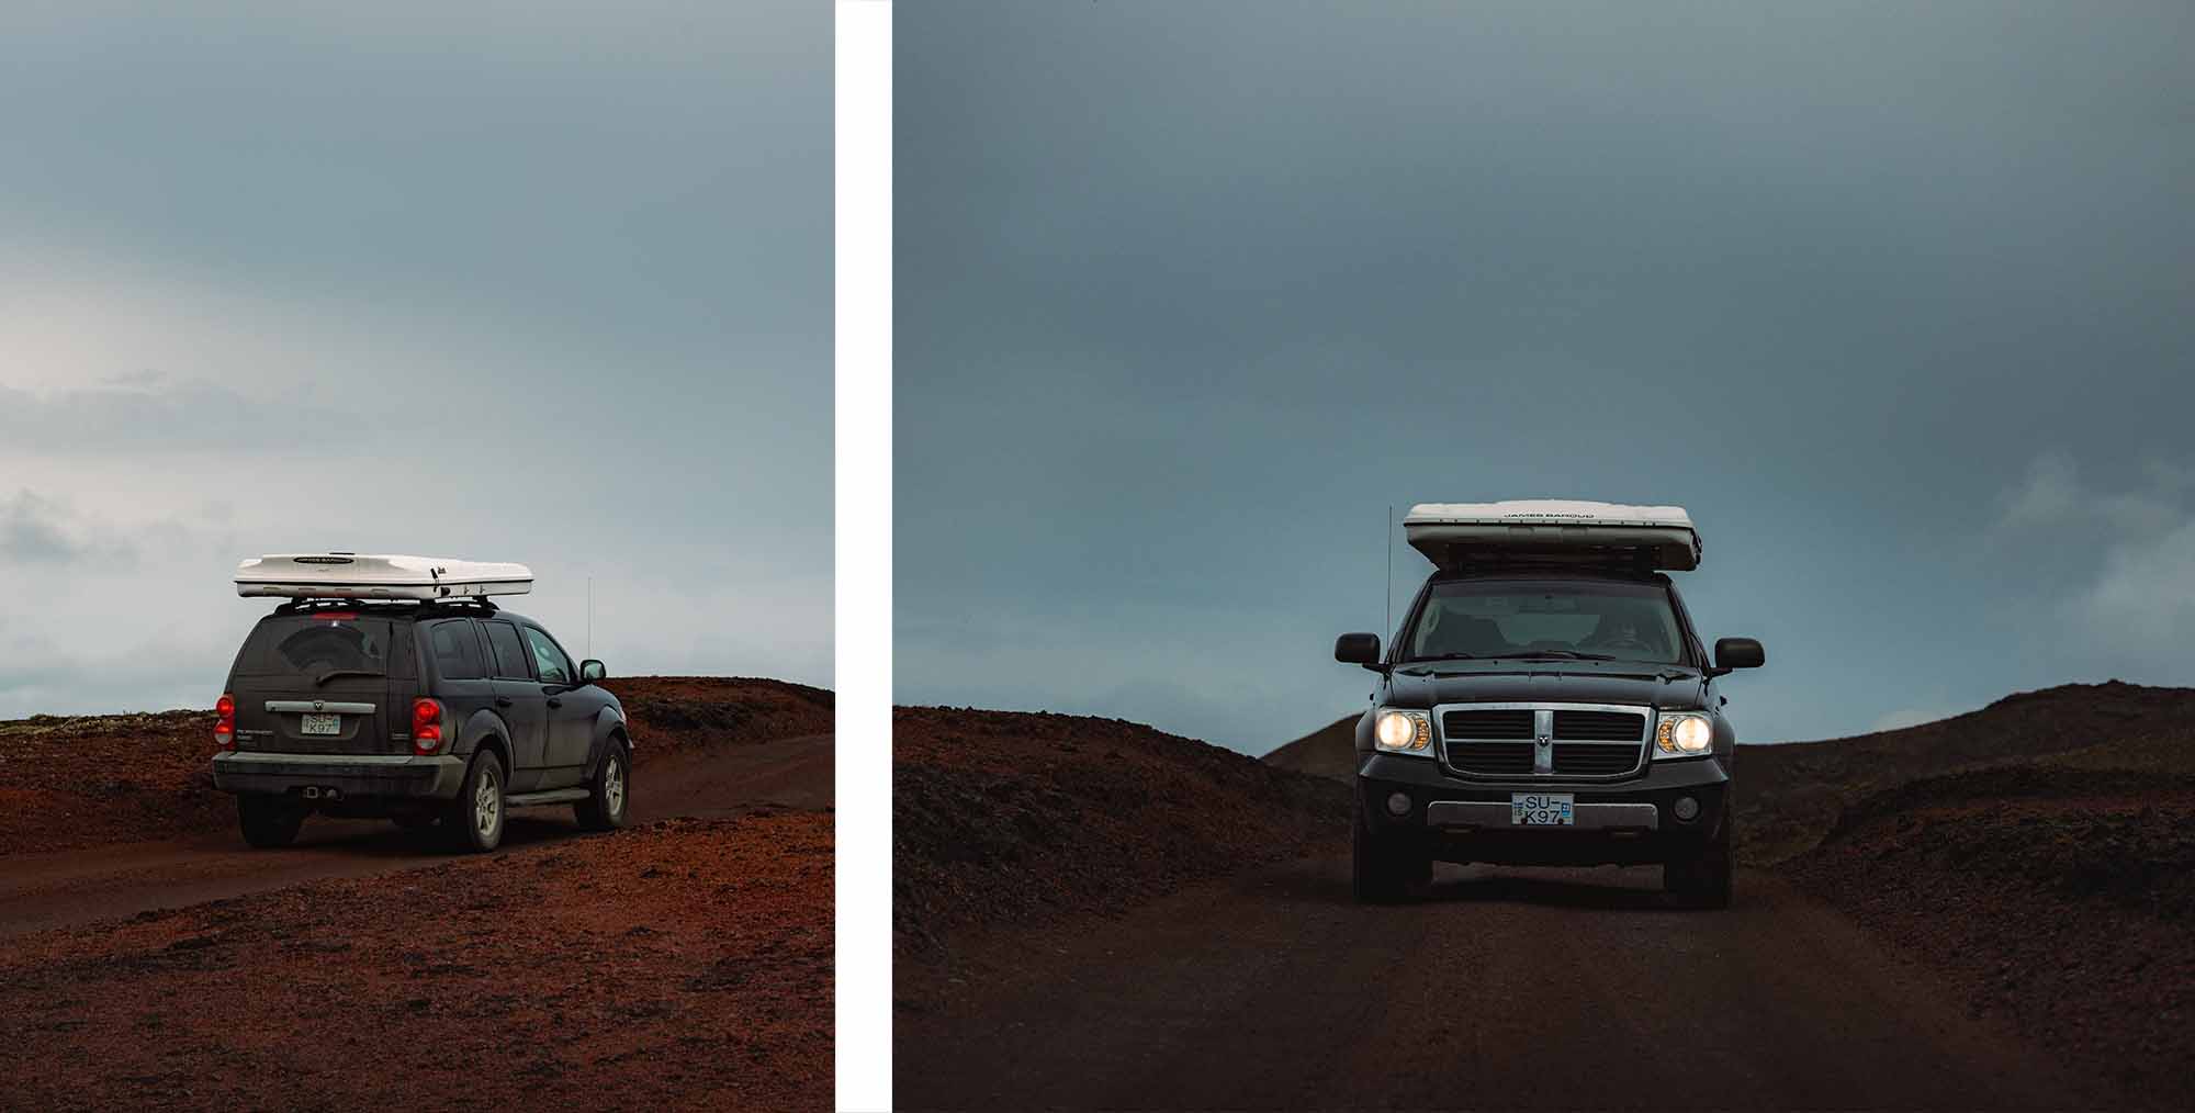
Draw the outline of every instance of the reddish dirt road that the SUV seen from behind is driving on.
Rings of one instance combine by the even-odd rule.
[[[832,735],[676,751],[639,762],[632,821],[720,819],[757,808],[828,808]],[[514,810],[498,854],[579,832],[571,808]],[[0,937],[281,889],[448,863],[386,821],[314,817],[290,850],[248,850],[233,825],[176,841],[20,854],[0,867]]]

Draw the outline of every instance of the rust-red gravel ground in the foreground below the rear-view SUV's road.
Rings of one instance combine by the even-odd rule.
[[[15,937],[0,1104],[828,1109],[830,1010],[832,817],[667,821]]]

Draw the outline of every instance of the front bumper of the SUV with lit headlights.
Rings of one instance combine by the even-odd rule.
[[[1727,823],[1727,757],[1648,762],[1629,782],[1565,782],[1530,777],[1477,782],[1442,773],[1438,762],[1374,753],[1357,768],[1357,792],[1374,830],[1433,858],[1501,865],[1642,865],[1699,852]],[[1389,812],[1389,799],[1409,797],[1409,810]],[[1510,825],[1512,792],[1569,792],[1576,825]],[[1699,803],[1692,819],[1677,819],[1677,799]]]

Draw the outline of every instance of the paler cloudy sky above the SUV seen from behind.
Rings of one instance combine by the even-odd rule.
[[[320,549],[828,685],[830,90],[803,0],[0,11],[0,718],[211,707]]]

